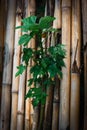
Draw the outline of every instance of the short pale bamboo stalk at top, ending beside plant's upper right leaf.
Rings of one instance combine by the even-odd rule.
[[[55,0],[54,17],[56,19],[54,20],[53,27],[60,29],[62,26],[62,1],[61,0]]]

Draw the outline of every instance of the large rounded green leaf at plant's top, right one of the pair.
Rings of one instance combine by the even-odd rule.
[[[40,28],[45,29],[51,27],[51,24],[54,20],[55,18],[51,16],[42,17],[39,21]]]

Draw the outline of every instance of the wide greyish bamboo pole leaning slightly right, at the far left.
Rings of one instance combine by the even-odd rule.
[[[12,84],[12,59],[14,43],[14,24],[15,24],[15,6],[16,0],[9,0],[7,25],[5,36],[5,54],[2,80],[2,104],[1,104],[1,129],[10,128],[10,102],[11,102],[11,84]]]

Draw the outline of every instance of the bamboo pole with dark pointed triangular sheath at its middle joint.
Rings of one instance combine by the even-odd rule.
[[[72,1],[70,130],[79,130],[81,21],[80,0]]]

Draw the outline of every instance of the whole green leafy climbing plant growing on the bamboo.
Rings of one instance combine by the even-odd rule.
[[[44,48],[42,37],[48,37],[48,32],[57,32],[57,29],[52,28],[52,22],[54,17],[46,16],[40,18],[37,22],[36,16],[30,16],[22,20],[21,28],[25,32],[19,39],[19,45],[23,45],[23,64],[17,67],[18,72],[16,76],[22,74],[29,65],[29,60],[32,59],[34,65],[31,67],[30,72],[32,78],[28,80],[29,91],[25,96],[25,99],[32,98],[33,106],[37,106],[39,103],[45,104],[46,101],[46,89],[55,84],[55,76],[62,78],[62,67],[65,66],[63,59],[65,58],[64,45],[56,44],[49,48]],[[35,38],[37,41],[36,49],[28,48],[29,41]],[[46,44],[46,43],[45,43]],[[31,85],[34,84],[34,88]]]

